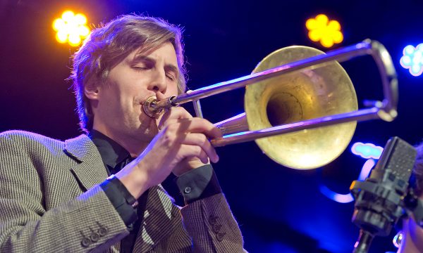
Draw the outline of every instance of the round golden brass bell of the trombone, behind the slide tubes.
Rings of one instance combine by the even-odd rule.
[[[253,73],[323,53],[307,46],[281,48],[266,56]],[[250,84],[244,103],[252,131],[358,109],[353,83],[336,61]],[[352,121],[305,129],[255,142],[275,162],[295,169],[313,169],[343,153],[356,124]]]

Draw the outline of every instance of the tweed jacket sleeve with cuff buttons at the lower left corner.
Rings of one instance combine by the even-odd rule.
[[[36,151],[0,135],[0,252],[103,251],[128,234],[100,186],[47,210]]]

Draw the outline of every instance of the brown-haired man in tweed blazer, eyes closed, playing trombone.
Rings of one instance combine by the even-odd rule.
[[[92,31],[73,58],[81,128],[57,141],[0,135],[0,252],[243,252],[243,238],[212,165],[206,119],[150,96],[185,91],[180,30],[125,15]],[[161,187],[169,174],[185,199]]]

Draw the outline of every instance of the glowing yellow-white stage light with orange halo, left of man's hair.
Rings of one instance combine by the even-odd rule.
[[[87,27],[87,18],[85,15],[73,11],[64,11],[61,18],[53,22],[53,30],[56,31],[56,40],[64,44],[68,42],[71,46],[79,46],[82,39],[90,34],[90,28]]]

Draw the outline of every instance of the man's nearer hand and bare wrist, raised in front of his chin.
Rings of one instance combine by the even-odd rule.
[[[163,182],[180,162],[198,159],[205,164],[219,160],[209,138],[221,137],[221,131],[207,119],[191,117],[183,108],[171,108],[159,128],[144,152],[116,174],[135,198]]]

